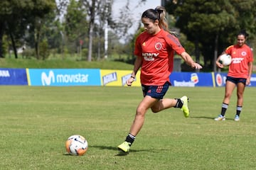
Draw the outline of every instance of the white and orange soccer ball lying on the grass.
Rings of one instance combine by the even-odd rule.
[[[68,154],[82,156],[88,149],[88,142],[81,135],[72,135],[65,142],[65,148]]]

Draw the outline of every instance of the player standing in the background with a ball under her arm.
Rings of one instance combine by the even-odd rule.
[[[237,110],[235,114],[235,121],[240,120],[240,113],[242,111],[243,93],[245,86],[250,84],[250,77],[252,75],[253,54],[251,48],[245,44],[248,34],[245,30],[241,30],[237,35],[236,45],[228,47],[223,54],[231,55],[232,62],[228,69],[228,76],[225,84],[225,96],[221,108],[220,115],[215,120],[225,120],[225,112],[228,109],[230,98],[237,86]],[[218,67],[223,68],[223,64],[219,62],[220,57],[216,60]]]

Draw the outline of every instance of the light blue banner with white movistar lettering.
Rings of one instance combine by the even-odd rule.
[[[30,86],[100,86],[100,69],[28,69]]]

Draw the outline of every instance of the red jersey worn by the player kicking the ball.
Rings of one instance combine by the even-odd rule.
[[[174,52],[181,55],[185,49],[178,38],[165,30],[156,35],[143,32],[135,43],[134,55],[142,57],[141,83],[163,85],[169,81],[174,67]]]

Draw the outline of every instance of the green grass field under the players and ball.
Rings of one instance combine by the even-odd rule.
[[[178,108],[146,114],[131,151],[119,155],[137,104],[139,87],[0,86],[1,169],[255,169],[255,88],[245,89],[240,122],[235,91],[226,120],[223,88],[171,87],[166,97],[190,98],[190,118]],[[66,154],[70,135],[89,143],[82,157]]]

